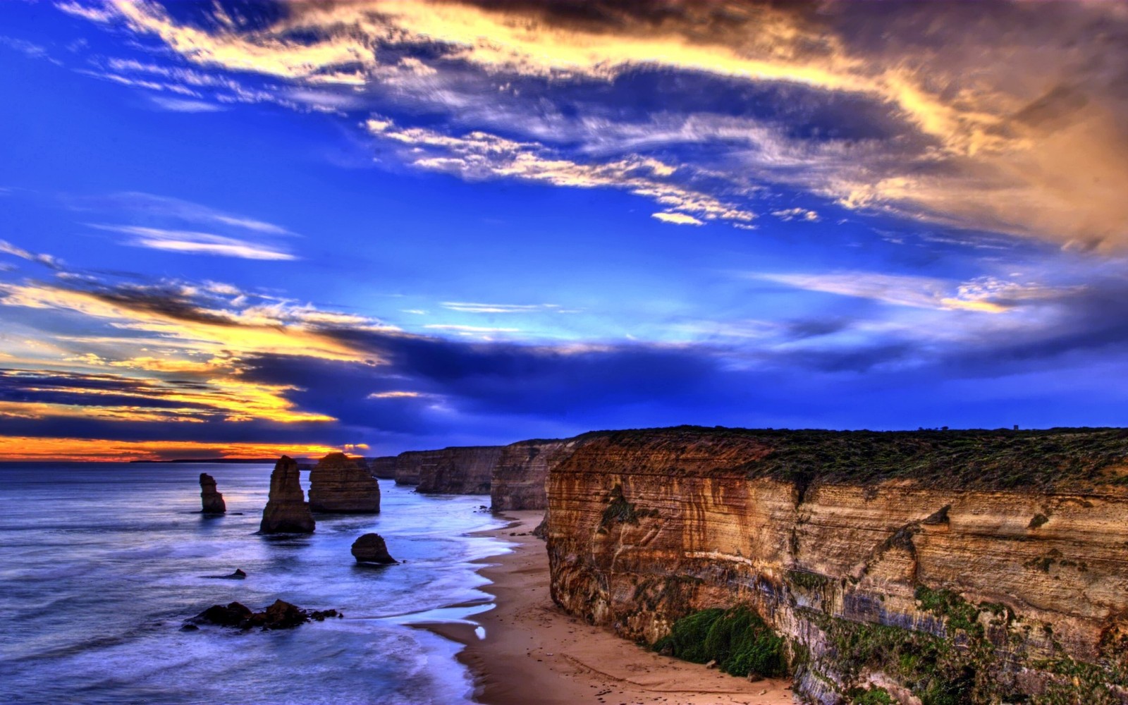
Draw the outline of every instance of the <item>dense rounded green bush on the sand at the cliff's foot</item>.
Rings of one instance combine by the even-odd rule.
[[[782,676],[786,671],[783,637],[747,607],[704,609],[673,624],[654,651],[694,663],[716,661],[733,676]]]

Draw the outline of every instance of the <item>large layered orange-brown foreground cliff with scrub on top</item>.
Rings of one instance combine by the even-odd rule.
[[[647,643],[747,606],[808,703],[1123,704],[1126,458],[1126,430],[611,433],[549,473],[552,597]]]

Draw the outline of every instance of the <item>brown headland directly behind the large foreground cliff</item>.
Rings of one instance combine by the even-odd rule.
[[[545,509],[548,505],[545,493],[548,470],[598,435],[585,433],[563,440],[518,441],[502,448],[490,481],[490,509],[495,512]]]

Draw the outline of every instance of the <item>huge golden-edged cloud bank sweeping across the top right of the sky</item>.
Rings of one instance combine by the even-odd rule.
[[[393,104],[446,116],[446,136],[504,129],[541,146],[517,140],[496,155],[487,144],[467,152],[432,141],[424,149],[453,153],[408,151],[420,168],[609,185],[623,182],[609,166],[617,160],[600,169],[593,155],[693,144],[678,169],[714,175],[694,191],[725,203],[734,184],[786,186],[866,213],[1101,252],[1128,245],[1128,16],[1118,3],[1014,2],[982,12],[935,2],[673,0],[578,10],[563,1],[359,0],[290,3],[258,23],[217,9],[192,24],[149,1],[63,9],[155,37],[199,71],[287,83],[256,89],[255,99],[300,108],[285,95],[294,86],[363,86],[373,112]],[[124,80],[140,73],[120,71]],[[660,99],[638,87],[669,74],[677,80]],[[729,98],[729,111],[708,103],[710,89]],[[644,111],[632,109],[638,94],[651,96]],[[562,151],[544,152],[548,144]],[[576,165],[585,167],[579,177]],[[661,197],[678,197],[643,195],[663,205]],[[730,209],[751,210],[739,199]]]

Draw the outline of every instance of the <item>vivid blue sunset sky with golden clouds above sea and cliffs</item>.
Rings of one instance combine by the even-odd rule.
[[[0,3],[0,458],[1125,425],[1128,5]]]

